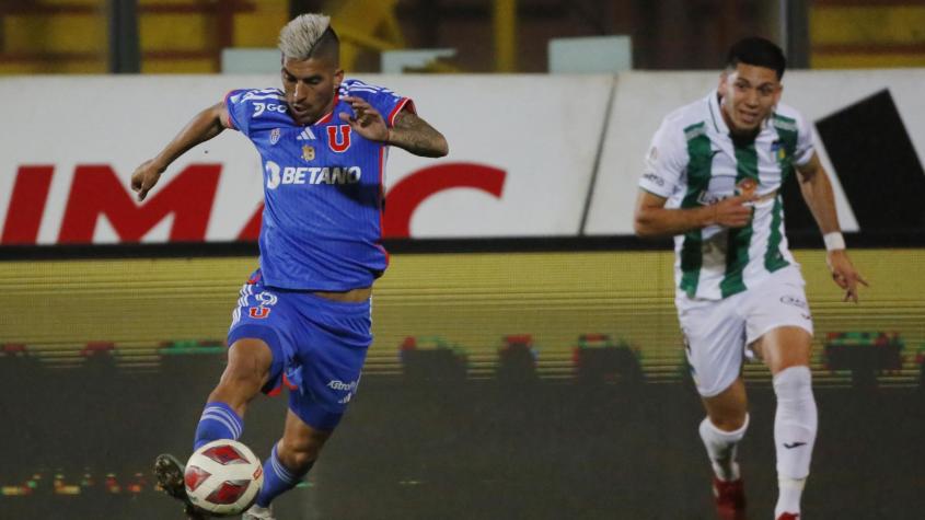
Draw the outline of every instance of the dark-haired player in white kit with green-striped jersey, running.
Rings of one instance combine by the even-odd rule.
[[[674,235],[675,303],[706,408],[699,434],[722,519],[745,518],[736,447],[749,426],[741,377],[747,349],[771,370],[777,396],[775,519],[800,518],[809,475],[817,431],[812,317],[799,265],[787,249],[781,199],[793,172],[845,301],[857,302],[857,285],[867,285],[845,252],[810,124],[779,103],[785,68],[784,53],[766,39],[733,45],[717,90],[662,122],[635,209],[639,236]]]

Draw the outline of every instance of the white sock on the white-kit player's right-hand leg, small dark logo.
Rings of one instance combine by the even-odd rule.
[[[790,367],[778,372],[774,377],[774,393],[777,394],[774,444],[781,484],[774,515],[799,513],[819,423],[809,367]]]

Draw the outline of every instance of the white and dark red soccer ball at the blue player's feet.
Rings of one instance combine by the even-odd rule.
[[[212,515],[239,515],[257,499],[264,470],[250,448],[220,439],[189,457],[184,482],[194,506]]]

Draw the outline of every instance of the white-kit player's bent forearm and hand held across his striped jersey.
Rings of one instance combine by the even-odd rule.
[[[752,208],[745,204],[754,199],[754,195],[738,195],[698,208],[666,209],[664,197],[640,189],[633,229],[638,236],[651,238],[686,233],[707,226],[742,228],[752,219]]]

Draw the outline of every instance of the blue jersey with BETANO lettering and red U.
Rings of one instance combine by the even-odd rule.
[[[230,124],[261,153],[264,212],[261,271],[269,287],[345,291],[369,287],[385,270],[382,247],[383,174],[388,146],[351,131],[343,96],[361,97],[392,127],[411,100],[388,89],[345,80],[334,111],[297,124],[279,89],[235,90]]]

